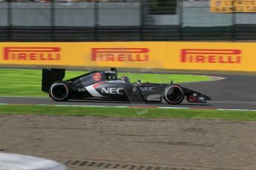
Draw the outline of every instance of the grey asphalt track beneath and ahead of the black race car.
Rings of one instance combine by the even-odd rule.
[[[208,103],[188,103],[178,107],[214,109],[256,109],[256,75],[214,74],[226,78],[220,81],[206,81],[181,84],[209,95],[213,101]],[[50,104],[50,105],[89,105],[89,106],[156,106],[175,107],[167,103],[128,103],[107,101],[68,101],[56,102],[50,98],[0,97],[0,103]],[[177,105],[176,105],[177,107]]]

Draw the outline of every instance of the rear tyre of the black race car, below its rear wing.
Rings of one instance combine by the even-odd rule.
[[[56,81],[50,86],[49,94],[54,101],[68,101],[70,87],[64,81]]]

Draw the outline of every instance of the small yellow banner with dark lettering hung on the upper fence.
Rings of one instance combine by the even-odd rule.
[[[214,13],[256,13],[256,0],[211,0]]]

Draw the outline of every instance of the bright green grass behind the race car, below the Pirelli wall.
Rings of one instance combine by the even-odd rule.
[[[83,71],[67,71],[65,80],[82,75]],[[191,81],[209,81],[204,75],[168,75],[168,74],[142,74],[119,73],[119,77],[128,75],[131,82],[137,79],[152,83],[183,83]],[[41,69],[0,69],[0,96],[47,96],[41,91]]]

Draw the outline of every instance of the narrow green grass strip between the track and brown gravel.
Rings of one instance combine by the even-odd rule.
[[[221,111],[202,109],[134,109],[93,106],[23,106],[0,105],[0,114],[118,116],[134,118],[202,118],[256,120],[253,111]]]

